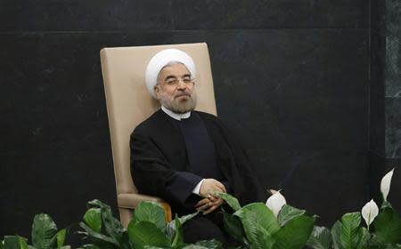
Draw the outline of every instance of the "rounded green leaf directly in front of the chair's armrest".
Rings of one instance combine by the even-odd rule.
[[[149,221],[163,232],[166,230],[166,219],[163,207],[150,201],[141,202],[134,211],[135,221]]]

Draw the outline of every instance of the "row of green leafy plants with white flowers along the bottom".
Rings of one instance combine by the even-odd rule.
[[[315,226],[317,216],[288,205],[280,191],[273,191],[265,203],[241,206],[225,193],[216,193],[225,200],[221,208],[225,230],[241,245],[237,249],[396,249],[401,248],[401,219],[387,197],[394,170],[381,180],[381,208],[371,200],[361,212],[345,213],[331,229]],[[152,202],[142,202],[125,229],[113,217],[109,205],[99,200],[88,202],[83,221],[83,245],[87,249],[219,249],[217,240],[185,244],[183,224],[198,213],[165,221],[163,208]],[[364,220],[364,223],[362,222]],[[69,249],[64,245],[67,229],[57,229],[53,219],[45,214],[34,218],[31,244],[24,237],[5,236],[0,249]]]

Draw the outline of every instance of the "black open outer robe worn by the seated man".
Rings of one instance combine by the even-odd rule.
[[[217,166],[230,194],[241,205],[263,200],[260,184],[244,149],[216,117],[196,112],[216,149]],[[192,113],[193,115],[193,113]],[[176,120],[161,109],[139,124],[131,134],[131,172],[139,193],[160,197],[173,213],[193,213],[201,197],[192,189],[203,178],[191,172],[183,133]]]

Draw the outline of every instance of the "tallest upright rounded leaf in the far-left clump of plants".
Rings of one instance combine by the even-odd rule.
[[[56,241],[53,237],[57,233],[57,226],[53,219],[45,214],[35,215],[32,224],[32,244],[37,249],[48,249],[55,247]]]

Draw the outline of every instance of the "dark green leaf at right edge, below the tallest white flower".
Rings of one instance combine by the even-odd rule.
[[[375,235],[383,243],[399,243],[401,220],[392,208],[385,208],[373,221]]]

